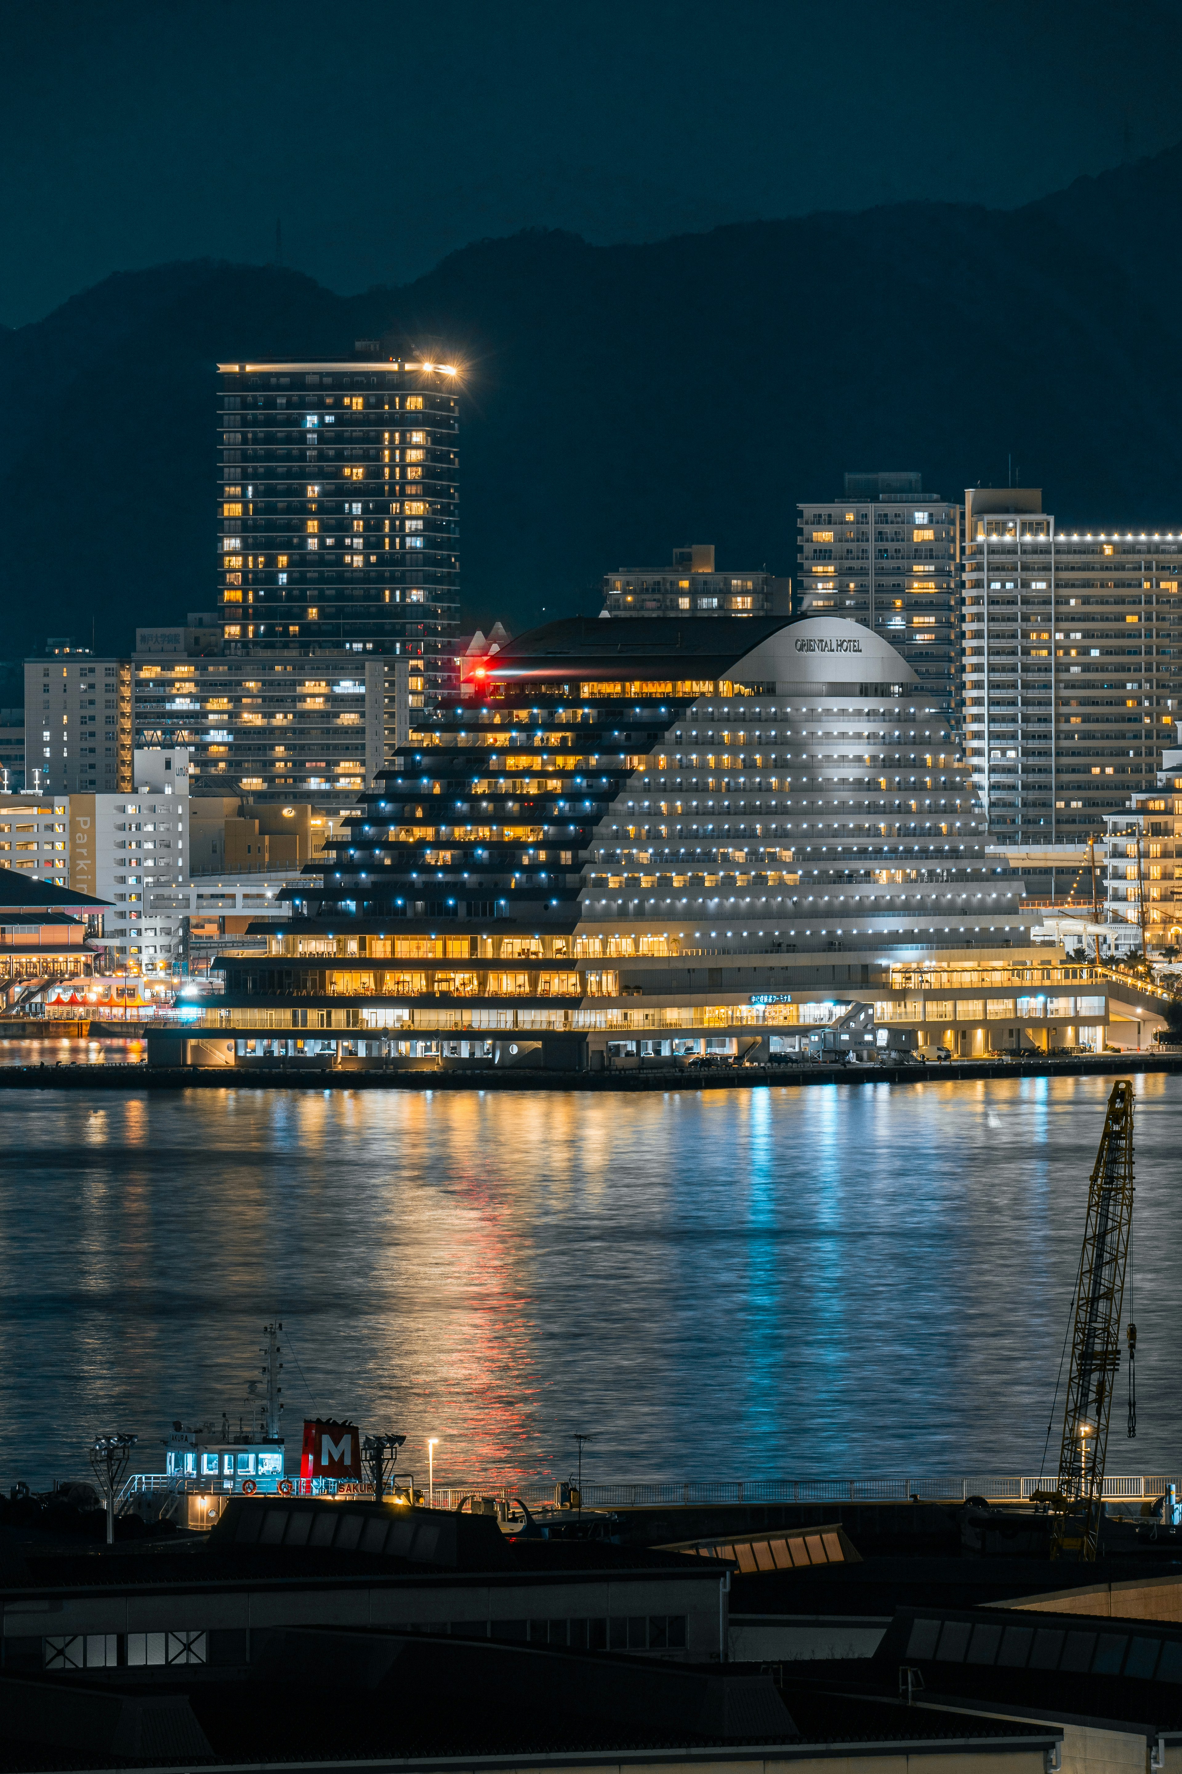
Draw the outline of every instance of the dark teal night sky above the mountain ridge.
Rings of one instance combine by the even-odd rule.
[[[1182,4],[239,0],[0,14],[0,319],[117,270],[284,263],[342,294],[466,241],[1015,206],[1182,137]]]

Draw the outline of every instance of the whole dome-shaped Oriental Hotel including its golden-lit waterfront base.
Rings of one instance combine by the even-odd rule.
[[[223,956],[191,1061],[771,1057],[854,1002],[957,1054],[1148,1038],[1033,944],[948,704],[858,623],[562,621],[470,688]]]

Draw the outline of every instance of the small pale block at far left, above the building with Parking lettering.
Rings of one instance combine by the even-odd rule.
[[[131,660],[66,646],[25,660],[25,786],[34,793],[131,788]]]

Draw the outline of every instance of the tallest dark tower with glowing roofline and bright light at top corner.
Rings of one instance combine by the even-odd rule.
[[[459,619],[454,365],[220,364],[218,477],[227,653],[409,656],[434,701]]]

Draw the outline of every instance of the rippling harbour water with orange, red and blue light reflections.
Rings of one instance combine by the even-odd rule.
[[[1136,1082],[1141,1472],[1182,1080]],[[273,1313],[319,1410],[439,1435],[445,1480],[565,1474],[574,1430],[601,1478],[1037,1471],[1109,1087],[4,1091],[0,1481],[236,1421]]]

